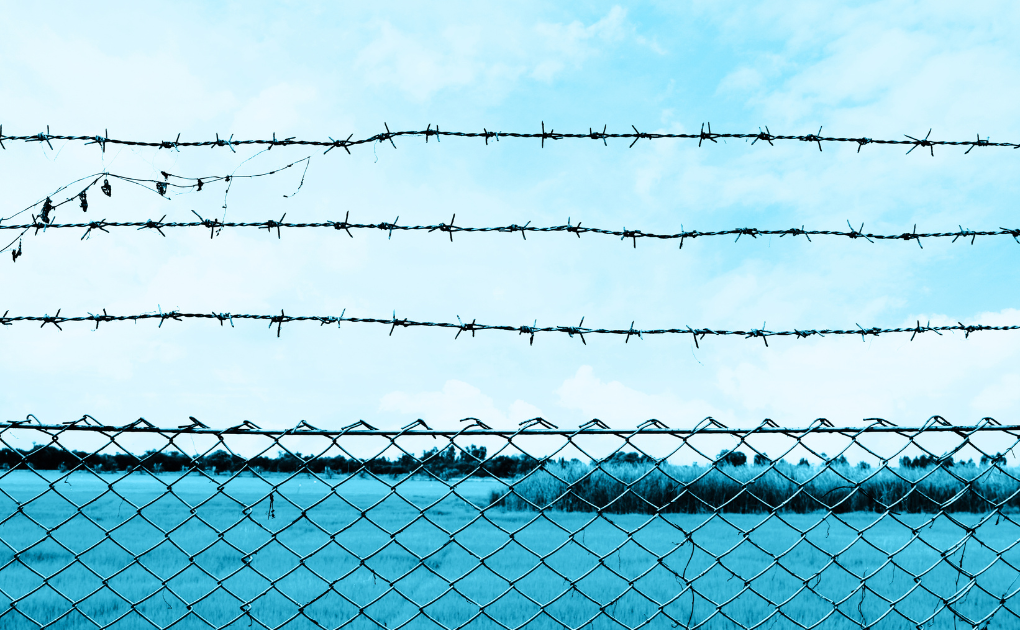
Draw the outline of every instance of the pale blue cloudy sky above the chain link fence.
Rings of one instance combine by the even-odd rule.
[[[371,6],[369,6],[369,4]],[[810,134],[1020,142],[1013,3],[2,2],[4,134],[161,141],[366,138],[384,129]],[[227,220],[733,227],[901,233],[1018,227],[1010,149],[404,138],[335,150],[54,142],[0,151],[0,217],[67,182],[271,177],[160,197],[113,180],[60,221]],[[304,181],[301,183],[302,175]],[[299,186],[300,185],[300,186]],[[224,209],[224,199],[226,208]],[[21,217],[23,218],[23,217]],[[17,219],[5,220],[5,223]],[[0,234],[7,235],[7,232]],[[13,234],[11,234],[13,238]],[[6,241],[0,247],[6,245]],[[1020,324],[1012,239],[629,242],[572,234],[293,229],[28,234],[0,309],[398,317],[752,329]],[[346,311],[345,311],[346,309]],[[471,337],[431,328],[214,321],[0,329],[3,420],[90,414],[165,426],[249,420],[434,428],[541,416],[629,428],[764,418],[1020,423],[1020,332],[871,337]]]

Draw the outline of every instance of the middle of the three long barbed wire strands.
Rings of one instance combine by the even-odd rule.
[[[86,239],[92,232],[92,230],[103,230],[108,231],[106,228],[129,228],[134,227],[137,229],[155,229],[162,235],[163,229],[172,228],[187,228],[187,227],[202,227],[210,230],[209,238],[213,238],[215,234],[219,233],[220,230],[224,228],[243,228],[243,227],[254,227],[258,229],[266,229],[272,233],[272,230],[276,230],[276,237],[280,238],[282,229],[291,228],[326,228],[335,229],[340,231],[346,231],[352,239],[354,234],[351,230],[373,230],[373,231],[386,231],[389,232],[389,237],[393,237],[394,231],[427,231],[434,232],[439,231],[441,233],[447,233],[450,237],[450,241],[453,241],[453,235],[455,233],[488,233],[488,232],[499,232],[499,233],[517,233],[519,232],[522,238],[526,240],[527,233],[572,233],[578,239],[581,234],[601,234],[607,237],[619,237],[621,241],[630,239],[632,246],[638,247],[639,239],[653,239],[661,241],[676,241],[679,240],[679,248],[683,249],[683,243],[686,240],[694,240],[698,238],[705,237],[732,237],[736,235],[733,242],[741,240],[741,237],[750,237],[752,239],[757,239],[758,237],[797,237],[803,235],[811,241],[811,237],[845,237],[851,240],[862,239],[868,242],[874,241],[914,241],[919,247],[923,249],[924,246],[921,245],[923,239],[953,239],[953,243],[956,243],[958,239],[970,239],[971,245],[974,244],[977,237],[1011,237],[1017,243],[1020,243],[1020,228],[1009,228],[1000,227],[999,229],[982,229],[973,230],[966,229],[962,225],[959,230],[956,231],[940,231],[940,232],[918,232],[917,225],[914,225],[913,231],[902,232],[902,233],[874,233],[864,231],[864,224],[861,227],[854,228],[850,221],[847,221],[849,230],[838,230],[838,229],[805,229],[802,225],[801,227],[792,227],[786,229],[764,229],[758,227],[734,227],[730,229],[719,229],[719,230],[683,230],[681,226],[681,231],[673,233],[665,232],[650,232],[641,229],[627,229],[623,227],[622,229],[606,229],[602,227],[584,227],[581,223],[576,225],[571,224],[570,220],[567,219],[566,224],[562,225],[549,225],[545,227],[540,227],[537,225],[531,225],[530,221],[523,224],[512,223],[510,225],[501,226],[489,226],[489,227],[471,227],[464,225],[456,225],[454,221],[457,215],[454,214],[453,218],[450,219],[449,223],[434,223],[430,225],[401,225],[397,221],[400,220],[398,216],[393,222],[380,221],[378,223],[352,223],[350,221],[350,212],[343,221],[311,221],[311,222],[291,222],[285,221],[287,213],[278,219],[268,219],[265,221],[220,221],[218,219],[206,219],[199,215],[194,210],[192,211],[195,216],[199,218],[198,221],[166,221],[165,215],[159,220],[148,219],[145,221],[107,221],[101,219],[98,221],[88,221],[88,222],[76,222],[76,223],[45,223],[41,220],[37,220],[33,223],[19,223],[19,224],[9,224],[4,225],[0,223],[0,229],[20,229],[21,233],[30,229],[35,229],[38,233],[39,230],[46,231],[48,229],[86,229],[86,232],[82,235],[82,239]]]

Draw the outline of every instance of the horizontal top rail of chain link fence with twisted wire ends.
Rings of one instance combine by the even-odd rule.
[[[87,418],[91,419],[91,416]],[[467,418],[466,420],[474,420]],[[63,424],[41,424],[32,420],[8,421],[0,423],[0,432],[12,429],[33,429],[48,433],[60,433],[64,431],[94,432],[94,433],[158,433],[158,434],[199,434],[199,435],[264,435],[269,437],[285,437],[288,435],[308,435],[320,437],[340,437],[344,435],[377,436],[377,437],[457,437],[460,435],[488,435],[494,437],[518,437],[518,436],[568,436],[575,435],[696,435],[696,434],[724,434],[724,435],[752,435],[752,434],[779,434],[779,435],[806,435],[809,433],[929,433],[929,432],[951,432],[951,433],[974,433],[978,431],[997,431],[1020,435],[1020,424],[999,424],[992,418],[982,418],[981,422],[970,425],[953,425],[934,416],[923,425],[897,426],[879,418],[872,420],[870,424],[861,426],[834,426],[823,418],[816,420],[806,427],[783,427],[774,422],[765,422],[756,427],[727,427],[722,423],[707,418],[694,428],[670,428],[658,421],[654,425],[639,425],[629,429],[614,429],[601,423],[599,426],[581,425],[576,429],[561,429],[542,418],[533,418],[521,423],[517,429],[494,429],[475,421],[466,425],[460,430],[435,430],[427,428],[422,422],[417,422],[400,430],[384,430],[371,425],[358,422],[341,429],[319,429],[302,422],[290,429],[263,429],[257,425],[246,422],[239,426],[218,429],[205,425],[184,425],[176,427],[157,427],[149,424],[144,419],[123,426],[105,425],[101,423],[91,423],[86,419],[67,422]],[[538,421],[538,422],[537,422]],[[651,422],[651,421],[650,421]],[[586,423],[591,424],[591,423]],[[646,423],[648,424],[648,423]],[[704,426],[703,426],[704,425]],[[424,426],[425,428],[417,428]],[[534,428],[541,427],[541,428]]]

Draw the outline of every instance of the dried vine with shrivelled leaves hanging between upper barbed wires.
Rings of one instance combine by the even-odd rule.
[[[266,151],[268,151],[268,149],[266,149]],[[254,157],[255,156],[252,156],[251,158],[248,158],[248,160],[245,160],[245,162],[253,159]],[[242,162],[242,164],[244,162]],[[10,216],[0,217],[0,229],[20,229],[21,230],[20,233],[18,233],[18,235],[15,237],[10,243],[8,243],[6,246],[4,246],[2,249],[0,249],[0,254],[2,254],[4,252],[6,252],[7,250],[11,249],[14,246],[15,243],[18,243],[18,248],[17,248],[17,250],[14,251],[13,256],[12,256],[13,261],[17,262],[17,259],[22,254],[19,240],[30,229],[32,229],[33,227],[36,227],[36,231],[38,233],[39,229],[44,229],[45,230],[47,227],[57,227],[57,226],[61,226],[62,227],[62,226],[67,225],[67,224],[54,223],[54,220],[55,220],[55,217],[56,217],[56,211],[61,206],[63,206],[64,204],[75,202],[75,203],[79,204],[79,207],[82,209],[82,212],[88,212],[89,211],[89,196],[88,196],[89,191],[93,187],[99,185],[99,180],[100,179],[103,180],[102,185],[99,187],[100,191],[102,191],[103,195],[105,195],[106,197],[112,197],[112,195],[113,195],[113,187],[110,185],[110,181],[109,181],[112,178],[112,179],[115,179],[115,180],[121,180],[121,181],[125,181],[128,183],[132,183],[134,186],[141,187],[143,189],[146,189],[148,191],[156,193],[160,197],[163,197],[163,198],[165,198],[167,200],[169,200],[172,197],[172,192],[173,191],[178,191],[178,192],[181,192],[181,191],[194,191],[194,192],[197,193],[197,192],[201,192],[204,187],[206,187],[206,186],[208,186],[210,183],[216,183],[218,181],[224,181],[227,185],[226,190],[223,192],[223,206],[222,206],[223,216],[224,216],[224,219],[225,219],[225,216],[226,216],[226,214],[225,214],[226,213],[226,197],[230,194],[230,190],[231,190],[230,187],[231,187],[231,185],[233,183],[233,181],[235,179],[254,179],[254,178],[257,178],[257,177],[266,177],[266,176],[269,176],[269,175],[275,175],[275,174],[278,174],[278,173],[280,173],[280,172],[283,172],[285,170],[293,168],[293,167],[295,167],[295,166],[297,166],[297,165],[299,165],[301,163],[305,164],[305,172],[301,175],[301,182],[298,185],[297,191],[295,191],[294,193],[292,193],[290,195],[284,195],[285,198],[290,198],[290,197],[294,197],[295,195],[297,195],[298,192],[300,192],[301,189],[305,185],[305,174],[307,174],[307,172],[308,172],[308,166],[311,164],[311,157],[310,156],[302,158],[300,160],[295,160],[295,161],[293,161],[293,162],[291,162],[289,164],[286,164],[286,165],[280,166],[278,168],[274,168],[272,170],[267,170],[267,171],[263,171],[263,172],[259,172],[259,173],[252,173],[252,174],[247,174],[247,175],[238,175],[238,174],[232,173],[230,175],[206,175],[206,176],[203,176],[203,177],[187,177],[187,176],[184,176],[184,175],[175,175],[173,173],[170,173],[170,172],[167,172],[167,171],[163,170],[163,171],[160,171],[160,175],[162,175],[162,179],[153,179],[153,178],[145,178],[145,177],[132,177],[132,176],[129,176],[129,175],[122,175],[122,174],[112,173],[112,172],[105,171],[105,170],[104,171],[100,171],[100,172],[96,172],[96,173],[92,173],[92,174],[86,175],[84,177],[79,177],[78,179],[74,179],[73,181],[71,181],[69,183],[65,183],[64,186],[60,187],[56,191],[54,191],[54,192],[50,193],[49,195],[47,195],[45,198],[40,199],[36,203],[34,203],[34,204],[32,204],[32,205],[30,205],[30,206],[28,206],[26,208],[22,208],[21,210],[18,210],[17,212],[14,212]],[[240,165],[239,165],[239,167],[240,167]],[[91,181],[89,181],[89,183],[87,183],[78,193],[75,193],[73,195],[70,195],[70,196],[66,197],[65,199],[63,199],[61,201],[56,201],[56,202],[53,201],[53,197],[59,195],[60,193],[62,193],[63,191],[69,189],[70,187],[74,186],[75,183],[80,183],[82,181],[86,181],[86,180],[89,180],[89,179],[91,179]],[[32,213],[32,211],[35,210],[36,208],[39,208],[39,215],[38,216],[35,213]],[[19,224],[19,225],[11,225],[11,224],[3,225],[4,221],[8,221],[8,220],[10,220],[12,218],[15,218],[17,216],[20,216],[20,215],[27,213],[27,212],[32,213],[32,223],[22,223],[22,224]],[[165,218],[165,216],[164,216],[164,218]],[[222,222],[222,221],[220,221],[220,222]],[[100,221],[89,221],[88,223],[85,224],[85,226],[90,227],[90,228],[103,229],[103,231],[106,231],[104,229],[104,227],[108,227],[108,226],[110,226],[110,224],[106,223],[104,220],[100,220]],[[82,239],[84,240],[86,237],[89,235],[90,232],[91,232],[91,229],[84,237],[82,237]]]

